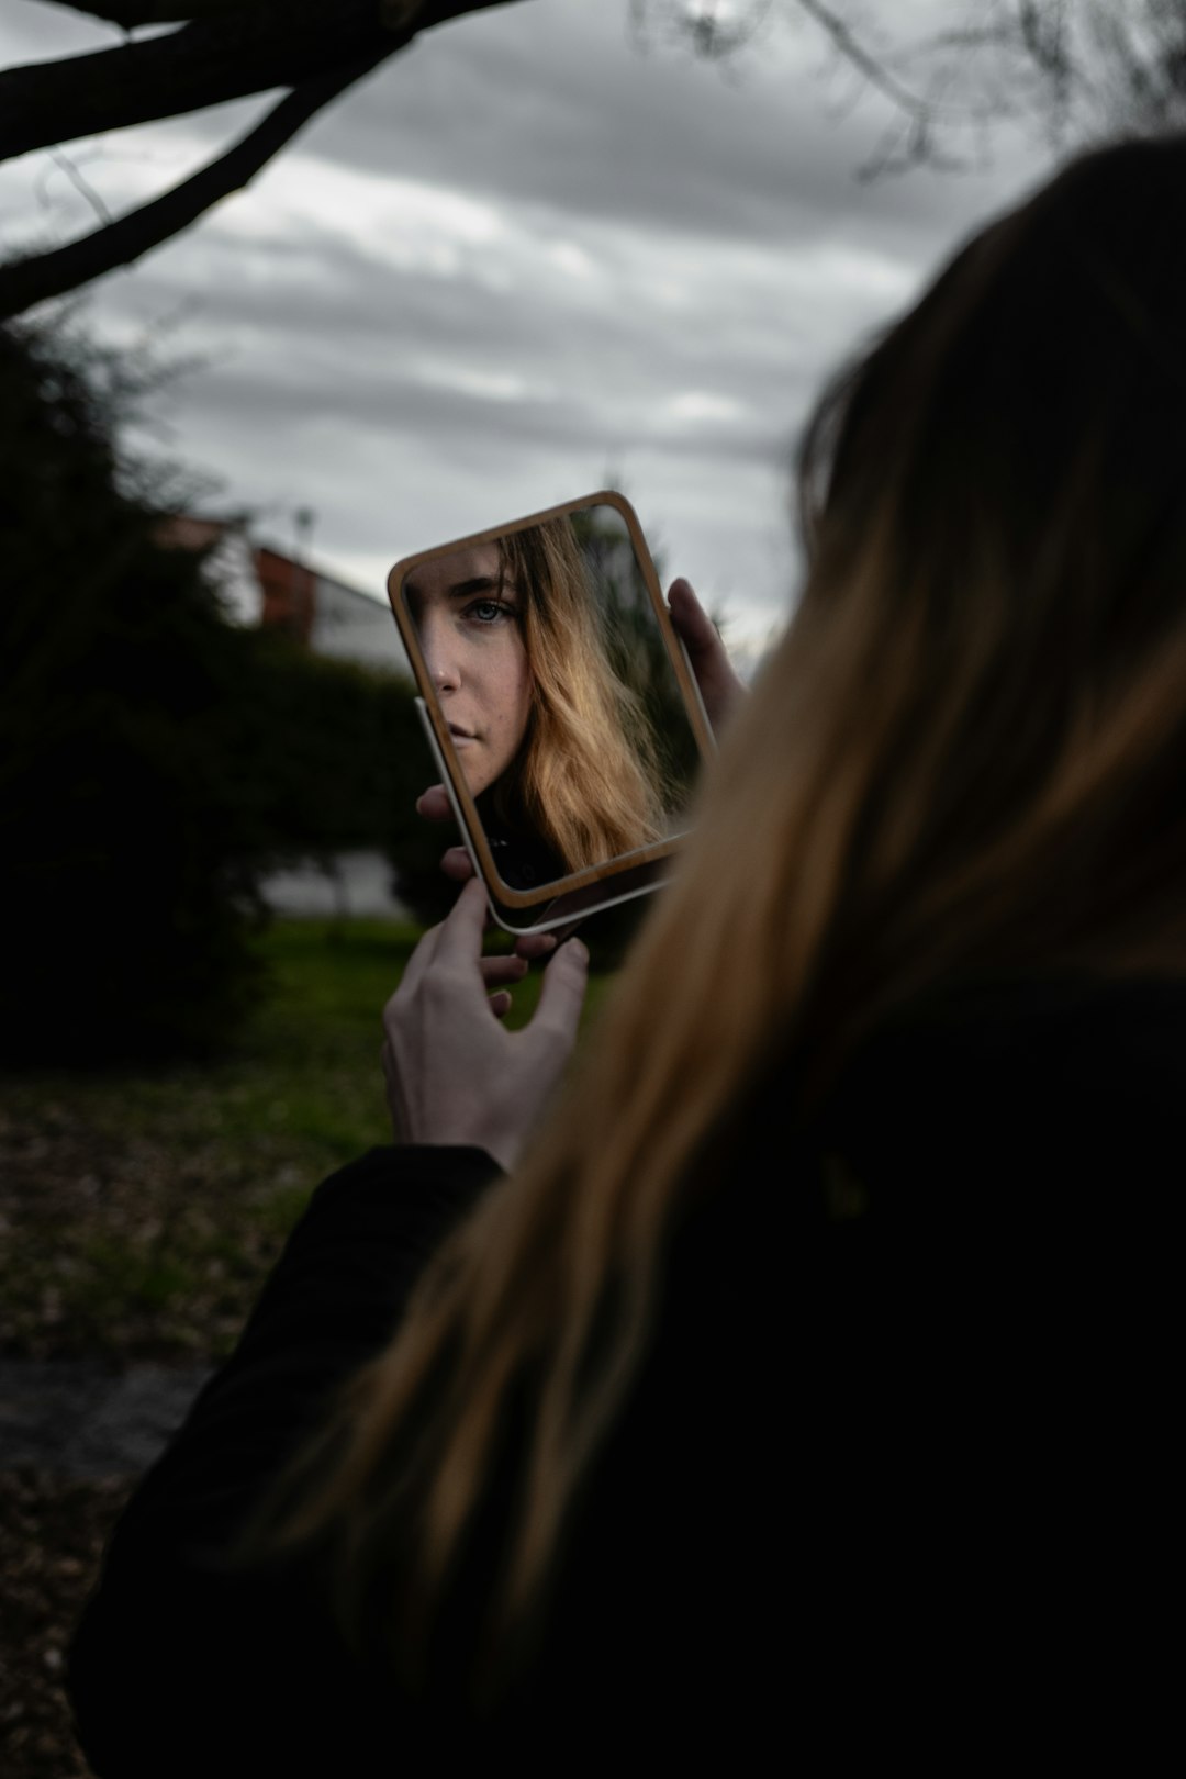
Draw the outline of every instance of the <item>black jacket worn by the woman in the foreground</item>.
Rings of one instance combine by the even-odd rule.
[[[347,1167],[116,1532],[69,1669],[94,1770],[950,1768],[1113,1735],[1131,1761],[1172,1699],[1184,1085],[1174,984],[919,1010],[809,1131],[773,1069],[669,1247],[544,1646],[482,1722],[461,1667],[409,1699],[309,1578],[217,1560],[496,1190],[473,1149]]]

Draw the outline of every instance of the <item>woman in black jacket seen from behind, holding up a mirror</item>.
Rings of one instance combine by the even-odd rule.
[[[832,386],[793,624],[542,1128],[580,948],[510,1034],[480,888],[425,938],[397,1146],[114,1541],[100,1774],[181,1719],[284,1774],[1158,1733],[1184,192],[1181,139],[1085,157]]]

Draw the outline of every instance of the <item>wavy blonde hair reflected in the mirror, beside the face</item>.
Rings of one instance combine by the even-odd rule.
[[[494,792],[510,825],[539,834],[569,872],[663,836],[663,774],[640,699],[613,671],[603,617],[567,518],[500,539],[519,591],[532,717]]]

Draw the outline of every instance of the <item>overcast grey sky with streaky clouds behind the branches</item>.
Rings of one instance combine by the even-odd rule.
[[[606,484],[741,648],[786,617],[789,455],[827,374],[1047,162],[859,178],[885,128],[779,0],[729,68],[631,37],[628,0],[525,0],[427,32],[249,192],[92,286],[87,326],[196,358],[155,413],[290,546],[382,596],[391,562]],[[896,0],[862,12],[960,12]],[[4,0],[5,66],[119,41]],[[855,94],[855,101],[853,101]],[[114,212],[272,103],[71,146]],[[0,169],[0,251],[92,213],[48,155]]]

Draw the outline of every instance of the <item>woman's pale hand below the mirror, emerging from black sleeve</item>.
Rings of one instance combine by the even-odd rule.
[[[477,1144],[510,1169],[551,1098],[576,1041],[589,954],[562,945],[544,973],[533,1018],[507,1032],[505,989],[521,957],[482,957],[485,890],[473,879],[452,914],[413,952],[382,1012],[382,1073],[397,1142]]]

